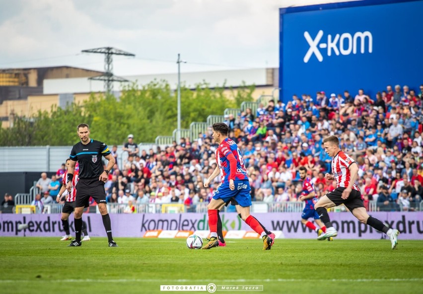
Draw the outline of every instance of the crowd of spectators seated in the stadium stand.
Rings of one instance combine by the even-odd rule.
[[[229,137],[237,142],[247,168],[253,201],[297,201],[302,192],[298,167],[305,166],[318,197],[336,187],[324,178],[332,158],[322,149],[323,138],[336,135],[341,149],[359,167],[358,186],[364,204],[377,201],[380,211],[420,208],[423,196],[423,85],[420,93],[408,86],[388,85],[373,98],[362,89],[330,94],[293,95],[286,104],[269,101],[257,112],[251,109],[236,117],[226,115]],[[108,203],[180,203],[188,212],[209,202],[210,188],[203,181],[216,167],[211,128],[191,140],[181,138],[165,148],[139,150],[128,136],[122,166],[115,164],[105,183]],[[112,154],[117,159],[117,146]],[[64,172],[63,167],[58,171]],[[41,180],[41,179],[40,179]],[[43,190],[43,192],[45,192]],[[46,197],[48,193],[45,193]],[[49,192],[51,194],[51,192]]]

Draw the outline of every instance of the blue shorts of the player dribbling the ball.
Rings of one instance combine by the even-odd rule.
[[[228,202],[233,197],[242,207],[251,206],[250,182],[248,180],[233,181],[235,189],[229,189],[229,182],[221,184],[214,192],[213,199]]]

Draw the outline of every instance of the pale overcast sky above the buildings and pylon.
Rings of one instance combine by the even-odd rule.
[[[317,2],[303,0],[302,2]],[[279,8],[295,0],[13,0],[0,4],[0,68],[74,66],[117,75],[279,66]]]

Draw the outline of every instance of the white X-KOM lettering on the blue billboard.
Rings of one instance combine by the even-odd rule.
[[[316,37],[311,38],[310,34],[304,32],[304,38],[307,41],[310,48],[304,56],[304,63],[307,63],[311,56],[314,54],[319,62],[323,61],[323,55],[320,49],[327,49],[327,55],[331,56],[332,51],[335,55],[350,55],[357,54],[357,43],[360,42],[360,53],[365,52],[365,45],[367,40],[368,53],[373,51],[373,36],[369,31],[356,32],[353,36],[350,33],[336,34],[335,36],[328,35],[326,43],[320,43],[323,37],[323,31],[319,30]],[[324,40],[323,40],[324,41]]]

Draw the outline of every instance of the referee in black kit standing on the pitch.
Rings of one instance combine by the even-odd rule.
[[[98,210],[103,218],[104,228],[109,239],[109,247],[118,247],[112,237],[112,225],[106,206],[106,192],[104,191],[104,182],[110,169],[115,164],[115,158],[112,156],[109,147],[106,144],[89,138],[89,126],[79,124],[77,134],[81,142],[73,145],[70,151],[70,164],[67,174],[66,189],[70,192],[72,187],[73,172],[76,161],[79,163],[79,181],[76,184],[75,198],[75,239],[68,246],[81,246],[82,213],[84,207],[88,207],[90,196],[97,202]],[[106,169],[103,170],[101,157],[104,156],[109,162]]]

